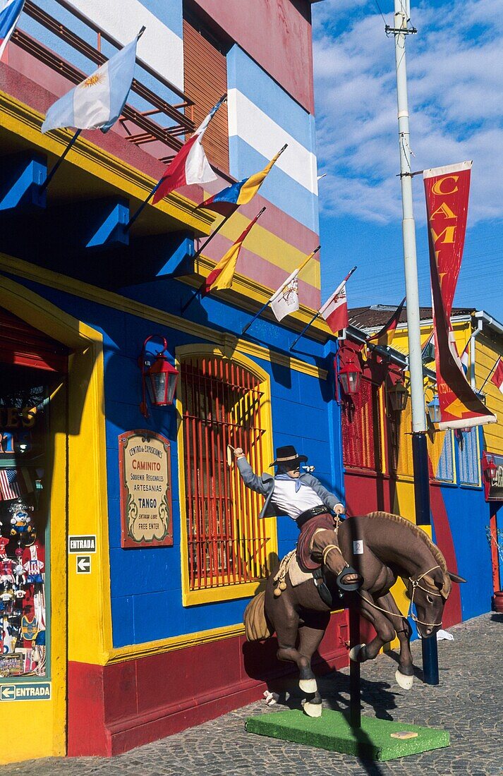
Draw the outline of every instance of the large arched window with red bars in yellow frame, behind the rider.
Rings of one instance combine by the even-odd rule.
[[[191,355],[180,364],[180,383],[189,590],[263,580],[271,538],[258,520],[262,497],[227,464],[232,445],[255,472],[264,470],[261,382],[229,359]]]

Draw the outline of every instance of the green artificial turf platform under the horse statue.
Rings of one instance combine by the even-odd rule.
[[[245,724],[248,733],[269,736],[295,743],[304,743],[330,752],[354,754],[365,760],[394,760],[408,754],[418,754],[449,746],[446,730],[406,725],[388,719],[362,716],[362,726],[352,729],[349,716],[342,712],[323,710],[321,717],[308,717],[300,709],[269,712],[249,717]],[[415,738],[392,738],[391,733],[412,731]]]

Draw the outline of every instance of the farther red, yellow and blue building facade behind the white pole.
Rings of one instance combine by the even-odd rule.
[[[392,348],[377,348],[365,361],[359,355],[366,334],[379,331],[393,310],[382,305],[352,310],[355,329],[339,355],[340,362],[358,361],[362,369],[358,395],[342,402],[346,502],[350,514],[365,513],[377,505],[414,521],[411,402],[400,411],[393,406],[395,386],[407,388],[409,381],[406,312],[401,314]],[[436,393],[434,346],[427,348],[432,310],[421,308],[420,314],[427,411]],[[451,323],[458,351],[466,351],[467,379],[501,418],[501,392],[490,379],[501,355],[501,324],[483,311],[461,308],[453,310]],[[494,454],[499,462],[503,440],[499,420],[471,431],[439,431],[428,412],[426,417],[432,536],[449,570],[467,579],[467,584],[453,587],[447,601],[447,627],[491,611],[494,591],[501,589],[498,547],[488,540],[489,534],[498,535],[501,494],[494,491],[493,501],[487,501],[487,455],[492,459]],[[400,597],[400,590],[395,592]]]

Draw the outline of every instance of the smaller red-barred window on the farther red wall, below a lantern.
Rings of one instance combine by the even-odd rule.
[[[346,467],[381,470],[379,388],[365,378],[342,404],[342,457]]]

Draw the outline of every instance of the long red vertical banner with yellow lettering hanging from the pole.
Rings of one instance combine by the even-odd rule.
[[[465,377],[450,323],[467,229],[471,161],[425,170],[440,429],[495,423]]]

